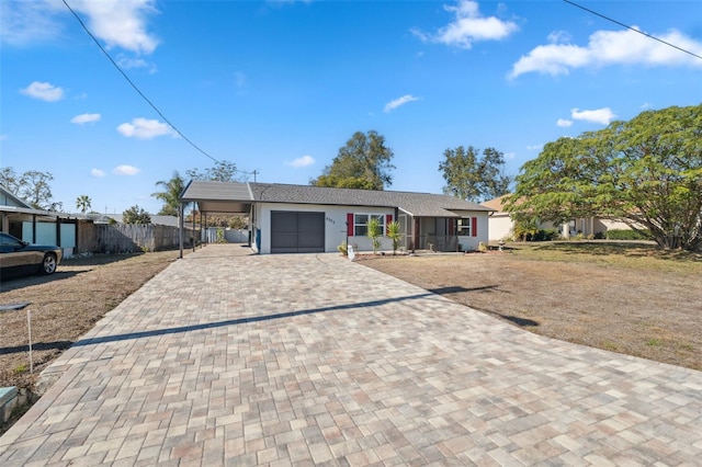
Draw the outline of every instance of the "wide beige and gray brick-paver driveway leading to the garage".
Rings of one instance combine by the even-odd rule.
[[[110,312],[48,368],[0,466],[702,463],[700,372],[336,254],[246,252],[208,246]]]

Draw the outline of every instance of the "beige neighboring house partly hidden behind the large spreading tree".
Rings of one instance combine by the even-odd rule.
[[[505,197],[507,196],[508,195],[502,195],[483,203],[483,206],[495,209],[495,212],[490,214],[490,217],[488,219],[490,241],[499,241],[513,238],[514,221],[511,219],[510,213],[505,210],[505,207],[502,206]],[[595,237],[598,234],[605,236],[608,230],[631,229],[631,227],[622,221],[601,219],[599,217],[571,219],[570,221],[563,225],[548,221],[539,223],[537,227],[544,230],[557,229],[563,238],[575,237],[577,235],[582,235],[584,237]]]

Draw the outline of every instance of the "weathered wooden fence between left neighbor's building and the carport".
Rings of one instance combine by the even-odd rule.
[[[178,227],[141,224],[86,224],[79,229],[80,253],[131,253],[179,248]],[[186,244],[192,234],[185,229]]]

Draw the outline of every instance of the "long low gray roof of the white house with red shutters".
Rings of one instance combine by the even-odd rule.
[[[291,203],[346,206],[397,207],[419,217],[458,217],[454,210],[494,210],[454,196],[431,193],[328,189],[281,183],[227,183],[193,181],[182,194],[182,201],[196,201],[203,210],[220,202]],[[242,210],[245,212],[245,210]]]

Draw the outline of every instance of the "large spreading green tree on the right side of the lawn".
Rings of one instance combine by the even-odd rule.
[[[544,220],[598,216],[661,248],[702,247],[702,105],[647,111],[561,138],[526,162],[506,208]]]

